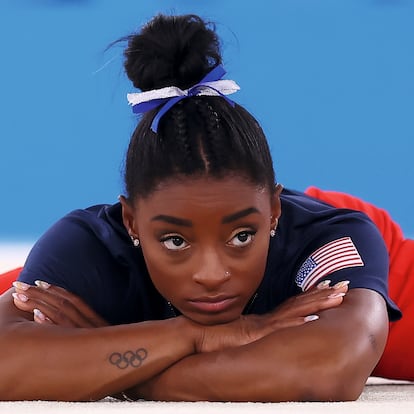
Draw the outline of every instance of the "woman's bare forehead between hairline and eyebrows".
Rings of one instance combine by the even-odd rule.
[[[211,212],[217,208],[234,210],[251,206],[268,208],[269,191],[240,177],[168,180],[138,200],[138,210],[149,209],[154,213],[195,208]]]

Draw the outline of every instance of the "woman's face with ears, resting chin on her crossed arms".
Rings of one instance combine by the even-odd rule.
[[[225,323],[263,278],[279,193],[235,177],[169,181],[134,208],[123,202],[124,223],[166,300],[195,322]]]

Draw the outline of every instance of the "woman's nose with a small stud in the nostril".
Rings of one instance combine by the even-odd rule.
[[[230,271],[226,269],[219,255],[214,251],[205,252],[200,258],[193,280],[208,290],[218,289],[230,279]]]

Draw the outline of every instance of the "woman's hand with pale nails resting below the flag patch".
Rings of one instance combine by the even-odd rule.
[[[196,341],[197,352],[218,351],[254,342],[280,329],[301,326],[319,319],[318,312],[340,306],[348,281],[330,286],[330,281],[287,299],[264,315],[241,315],[223,325],[202,326]]]

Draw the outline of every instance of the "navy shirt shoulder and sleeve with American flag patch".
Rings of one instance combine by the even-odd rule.
[[[335,208],[304,193],[281,195],[282,215],[269,261],[286,280],[308,290],[324,279],[350,280],[350,288],[368,288],[388,298],[389,256],[371,219],[360,211]]]

